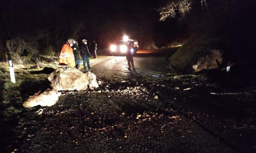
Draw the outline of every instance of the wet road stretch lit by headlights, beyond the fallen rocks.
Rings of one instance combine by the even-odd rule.
[[[134,66],[139,70],[165,72],[168,70],[168,57],[175,53],[177,48],[141,50],[133,57]],[[95,73],[112,70],[122,73],[127,71],[128,64],[125,56],[113,55],[91,65]]]

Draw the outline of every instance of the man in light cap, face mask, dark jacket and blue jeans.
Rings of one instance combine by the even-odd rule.
[[[87,46],[87,40],[83,39],[82,40],[82,48],[80,50],[80,54],[83,58],[83,66],[84,66],[84,71],[86,71],[86,63],[87,63],[87,67],[89,70],[91,70],[90,68],[90,61],[89,61],[89,57],[91,56],[88,46]]]

